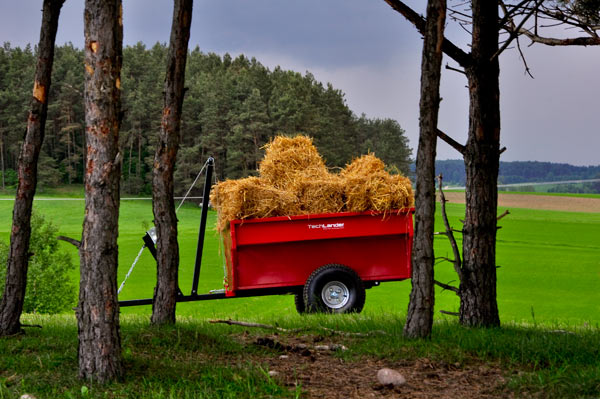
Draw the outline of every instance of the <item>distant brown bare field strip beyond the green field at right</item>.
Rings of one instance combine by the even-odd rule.
[[[464,192],[444,192],[449,202],[465,203]],[[553,195],[498,194],[498,205],[507,208],[545,209],[550,211],[600,213],[600,198]]]

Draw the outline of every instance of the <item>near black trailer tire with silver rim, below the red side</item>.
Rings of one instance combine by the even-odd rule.
[[[365,305],[365,287],[349,267],[325,265],[306,280],[304,304],[307,312],[360,313]]]

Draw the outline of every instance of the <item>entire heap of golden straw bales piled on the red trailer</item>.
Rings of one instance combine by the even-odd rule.
[[[340,174],[329,173],[306,136],[277,137],[267,145],[260,177],[227,180],[213,187],[217,230],[235,219],[314,213],[391,211],[411,207],[410,180],[390,175],[374,154],[355,159]]]

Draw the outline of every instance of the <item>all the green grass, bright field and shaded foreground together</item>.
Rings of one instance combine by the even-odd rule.
[[[76,193],[73,194],[75,197]],[[67,198],[65,193],[53,193]],[[53,220],[60,234],[81,235],[83,201],[36,201],[38,212]],[[7,240],[12,202],[0,201],[0,239]],[[499,213],[504,209],[499,209]],[[451,224],[460,228],[464,205],[448,204]],[[27,315],[26,322],[43,329],[0,340],[0,399],[23,393],[37,398],[104,397],[295,397],[290,389],[268,376],[265,349],[246,345],[241,327],[207,323],[232,318],[308,328],[320,335],[321,326],[367,332],[384,330],[386,336],[339,338],[350,348],[348,362],[367,358],[387,360],[429,358],[438,362],[500,365],[508,376],[507,389],[517,396],[577,398],[600,395],[600,214],[510,209],[498,231],[498,304],[503,327],[478,330],[460,327],[436,312],[430,341],[408,341],[402,327],[410,283],[382,284],[367,292],[360,315],[295,313],[291,296],[240,298],[178,304],[178,324],[147,326],[149,306],[122,309],[123,354],[127,376],[109,386],[77,379],[77,328],[72,315]],[[184,205],[179,213],[181,246],[180,286],[187,293],[195,256],[200,210]],[[215,214],[209,213],[209,226]],[[141,236],[152,221],[149,201],[122,201],[119,230],[119,283],[141,248]],[[437,230],[442,226],[437,220]],[[460,237],[458,237],[460,238]],[[460,241],[459,241],[460,244]],[[61,244],[74,260],[77,252]],[[436,238],[438,256],[450,254],[447,240]],[[155,266],[145,251],[122,299],[148,298],[155,284]],[[72,276],[77,279],[76,272]],[[207,232],[200,292],[221,288],[223,263],[219,240]],[[436,278],[456,280],[448,263],[436,266]],[[452,292],[436,293],[437,310],[456,311]],[[250,335],[264,331],[250,331]],[[285,335],[285,334],[284,334]]]

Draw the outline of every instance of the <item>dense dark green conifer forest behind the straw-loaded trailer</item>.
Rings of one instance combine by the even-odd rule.
[[[151,169],[160,129],[168,48],[138,43],[123,49],[122,189],[151,192]],[[0,188],[16,184],[16,165],[27,121],[36,50],[0,48]],[[41,186],[82,183],[84,175],[83,50],[56,47],[46,137],[39,161]],[[181,148],[175,186],[191,184],[213,156],[219,179],[255,173],[262,147],[276,134],[314,138],[328,166],[374,152],[393,170],[408,173],[412,150],[398,122],[355,115],[331,84],[279,67],[269,70],[244,55],[188,54]]]

